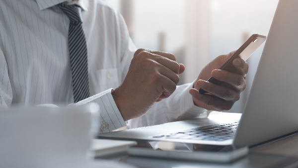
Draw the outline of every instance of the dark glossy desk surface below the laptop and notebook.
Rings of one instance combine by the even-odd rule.
[[[141,158],[127,154],[103,159],[129,163],[138,168],[298,168],[298,134],[253,148],[248,156],[229,164]]]

